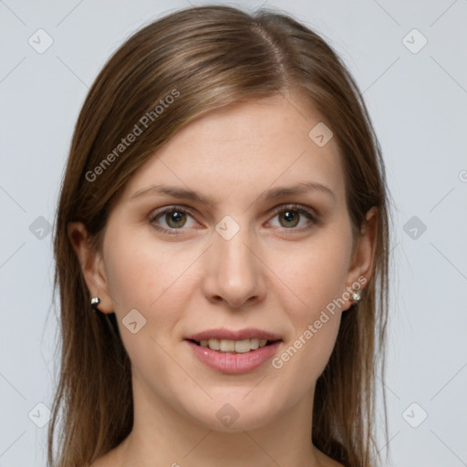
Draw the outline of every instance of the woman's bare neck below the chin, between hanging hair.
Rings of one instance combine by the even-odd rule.
[[[228,431],[204,426],[176,411],[140,384],[133,385],[134,422],[119,446],[119,463],[140,467],[318,467],[321,453],[311,442],[313,394],[286,407],[265,425]],[[238,421],[241,420],[241,414]],[[261,425],[261,424],[260,424]]]

